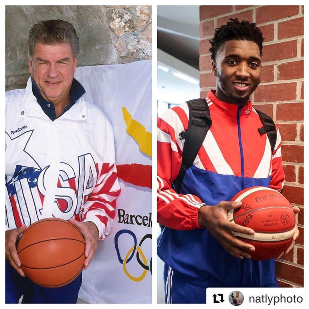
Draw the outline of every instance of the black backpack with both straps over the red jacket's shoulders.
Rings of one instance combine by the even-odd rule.
[[[172,183],[172,187],[178,193],[184,178],[184,173],[187,168],[192,166],[205,136],[211,127],[210,111],[205,99],[189,100],[186,103],[189,108],[188,129],[179,133],[180,139],[185,139],[184,149],[179,174]],[[273,152],[277,140],[277,132],[273,119],[257,109],[256,112],[263,123],[263,126],[258,131],[261,135],[264,133],[267,134]]]

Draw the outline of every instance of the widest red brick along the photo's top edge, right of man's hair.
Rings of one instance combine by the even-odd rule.
[[[256,9],[256,23],[266,23],[298,14],[298,6],[265,5]]]

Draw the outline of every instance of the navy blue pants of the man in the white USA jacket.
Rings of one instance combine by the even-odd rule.
[[[5,261],[5,302],[7,304],[18,303],[23,296],[22,303],[76,303],[78,291],[82,285],[82,273],[66,286],[60,288],[45,288],[38,286],[27,277],[21,277],[19,273]]]

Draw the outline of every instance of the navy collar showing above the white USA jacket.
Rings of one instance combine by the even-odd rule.
[[[40,104],[40,107],[42,108],[43,112],[49,117],[49,119],[51,121],[54,121],[57,117],[56,117],[56,111],[55,111],[55,107],[54,107],[53,103],[46,101],[43,98],[43,96],[40,92],[40,89],[36,86],[36,83],[34,82],[32,77],[31,77],[31,81],[32,81],[32,92],[33,92],[33,95],[36,97],[37,102]],[[84,89],[82,84],[79,83],[75,78],[73,78],[71,89],[70,89],[70,96],[71,96],[70,104],[68,104],[64,108],[61,115],[63,115],[65,112],[67,112],[74,105],[74,103],[78,99],[80,99],[81,96],[84,95],[85,93],[86,93],[86,90]]]

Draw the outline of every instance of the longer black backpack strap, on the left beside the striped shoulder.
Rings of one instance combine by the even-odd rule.
[[[189,100],[186,103],[189,108],[189,122],[188,130],[179,134],[180,139],[185,138],[185,142],[180,171],[172,184],[176,192],[179,192],[184,173],[192,166],[211,126],[210,111],[205,99]]]

